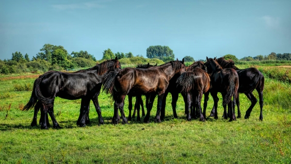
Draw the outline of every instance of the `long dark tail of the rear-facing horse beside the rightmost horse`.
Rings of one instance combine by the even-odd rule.
[[[230,74],[228,75],[229,85],[228,85],[228,88],[226,89],[226,96],[225,98],[223,98],[223,101],[222,101],[223,105],[228,104],[231,101],[232,96],[234,96],[235,93],[238,92],[237,91],[238,87],[236,87],[234,83],[235,75],[238,76],[236,71],[230,72]]]

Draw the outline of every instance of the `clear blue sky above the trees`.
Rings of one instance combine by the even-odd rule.
[[[0,59],[30,58],[45,44],[68,53],[105,49],[175,58],[291,53],[291,0],[0,0]]]

